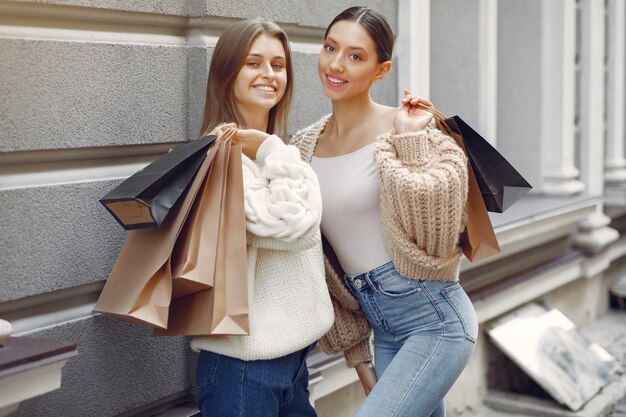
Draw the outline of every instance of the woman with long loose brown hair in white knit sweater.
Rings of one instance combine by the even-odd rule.
[[[248,231],[249,336],[195,337],[205,416],[315,416],[306,355],[333,323],[320,241],[321,196],[311,167],[285,145],[291,52],[274,23],[248,20],[220,36],[201,136],[236,128]]]

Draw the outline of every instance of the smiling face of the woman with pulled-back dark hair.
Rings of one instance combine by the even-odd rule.
[[[324,94],[339,101],[369,95],[372,84],[389,72],[391,63],[378,62],[376,45],[363,26],[342,20],[328,31],[317,68]]]

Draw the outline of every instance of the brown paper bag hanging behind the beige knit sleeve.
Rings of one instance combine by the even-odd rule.
[[[454,141],[463,149],[466,155],[468,155],[465,147],[464,137],[451,129],[448,126],[448,120],[438,110],[420,106],[424,110],[429,111],[434,115],[437,128],[443,133],[449,135]],[[480,187],[476,179],[476,174],[473,170],[472,164],[467,163],[468,173],[468,195],[467,195],[467,224],[465,231],[461,234],[461,250],[463,254],[470,261],[476,261],[479,259],[488,258],[489,256],[497,255],[500,253],[500,245],[496,239],[496,234],[493,231],[489,214],[485,202],[482,198]]]

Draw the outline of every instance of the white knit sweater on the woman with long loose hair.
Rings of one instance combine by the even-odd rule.
[[[303,349],[334,321],[319,225],[319,183],[300,153],[270,136],[255,161],[243,155],[248,230],[249,336],[195,337],[191,347],[242,360]]]

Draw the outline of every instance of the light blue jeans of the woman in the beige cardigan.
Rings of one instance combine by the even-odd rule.
[[[478,320],[455,281],[408,279],[389,262],[345,282],[374,330],[378,382],[357,417],[442,417]]]

